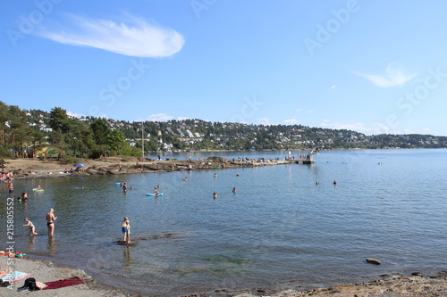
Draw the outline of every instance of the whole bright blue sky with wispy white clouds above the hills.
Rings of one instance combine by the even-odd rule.
[[[447,2],[0,4],[0,101],[447,136]]]

